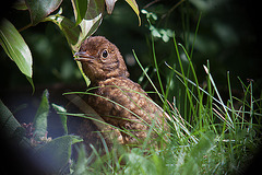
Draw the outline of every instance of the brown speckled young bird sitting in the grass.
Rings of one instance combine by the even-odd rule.
[[[120,143],[143,141],[154,124],[153,138],[166,129],[164,113],[144,90],[131,81],[123,58],[103,36],[85,39],[74,55],[93,88],[86,103],[108,124],[119,128]],[[82,128],[83,130],[83,128]]]

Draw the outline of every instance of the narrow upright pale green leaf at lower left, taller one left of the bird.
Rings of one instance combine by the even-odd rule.
[[[34,127],[35,127],[34,135],[36,137],[36,140],[47,135],[47,116],[49,113],[48,95],[49,95],[48,91],[45,90],[43,93],[40,105],[34,118]]]

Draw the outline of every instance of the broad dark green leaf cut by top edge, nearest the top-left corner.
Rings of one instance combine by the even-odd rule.
[[[31,13],[32,25],[36,25],[57,10],[62,0],[26,0],[25,2]]]

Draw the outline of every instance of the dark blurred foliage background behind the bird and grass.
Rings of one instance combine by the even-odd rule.
[[[146,15],[143,13],[141,13],[142,24],[139,26],[138,18],[132,9],[124,0],[118,0],[112,14],[104,15],[102,25],[94,34],[106,36],[118,46],[133,81],[139,82],[147,91],[152,90],[146,79],[143,79],[143,72],[133,58],[132,49],[157,85],[152,54],[153,34],[163,84],[171,82],[169,98],[180,93],[181,83],[175,80],[171,70],[165,65],[167,62],[179,70],[174,40],[168,35],[175,32],[177,42],[184,46],[189,55],[193,46],[191,60],[202,86],[206,80],[203,65],[206,65],[209,60],[210,71],[221,93],[225,94],[225,100],[228,95],[227,71],[230,74],[235,96],[241,97],[242,94],[238,77],[246,84],[249,83],[248,79],[252,79],[254,95],[257,98],[261,96],[260,49],[262,39],[259,2],[251,3],[245,0],[136,0],[136,2],[140,10],[151,12],[148,19],[154,28],[150,27]],[[71,2],[64,0],[61,7],[63,15],[73,21]],[[10,9],[3,16],[10,20],[16,28],[22,28],[29,23],[27,11]],[[45,89],[49,90],[51,103],[66,106],[68,101],[64,100],[62,93],[83,91],[86,86],[66,37],[55,24],[40,23],[21,34],[33,55],[33,81],[36,92],[32,95],[32,86],[26,78],[0,48],[0,98],[20,121],[29,122]],[[162,37],[157,37],[159,35]],[[187,68],[186,55],[181,48],[179,51]]]

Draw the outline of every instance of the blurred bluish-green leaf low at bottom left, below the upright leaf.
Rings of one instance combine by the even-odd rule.
[[[49,173],[58,173],[69,163],[71,145],[81,141],[83,140],[78,136],[62,136],[37,149],[35,156],[44,161],[43,166],[48,168]]]

